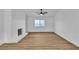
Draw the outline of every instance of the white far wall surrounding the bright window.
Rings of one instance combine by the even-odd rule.
[[[45,20],[45,27],[35,28],[34,20]],[[28,32],[54,32],[53,17],[28,17]]]

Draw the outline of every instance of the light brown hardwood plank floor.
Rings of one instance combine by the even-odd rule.
[[[19,43],[3,44],[1,50],[78,50],[79,48],[55,33],[31,32]]]

